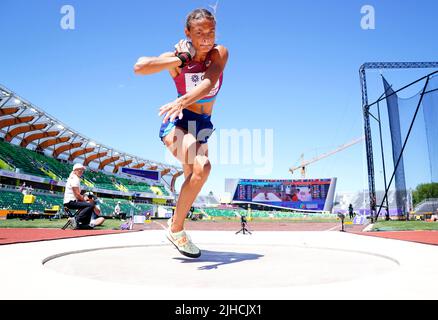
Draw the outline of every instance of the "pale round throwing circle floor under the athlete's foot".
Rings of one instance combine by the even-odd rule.
[[[170,288],[278,288],[391,272],[397,261],[366,252],[298,246],[203,245],[198,260],[170,245],[67,252],[44,260],[57,272],[105,282]]]

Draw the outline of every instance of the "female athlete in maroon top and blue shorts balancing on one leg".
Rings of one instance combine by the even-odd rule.
[[[207,142],[214,131],[211,115],[222,87],[228,50],[216,44],[216,19],[206,9],[188,15],[185,35],[187,39],[181,40],[174,52],[142,57],[134,71],[150,75],[168,70],[175,82],[178,98],[159,111],[159,116],[164,116],[160,139],[181,162],[185,181],[167,238],[184,256],[199,258],[201,251],[186,234],[184,222],[211,171]]]

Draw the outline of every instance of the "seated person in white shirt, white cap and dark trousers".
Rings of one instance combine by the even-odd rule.
[[[75,217],[70,218],[72,229],[89,229],[95,207],[94,203],[87,202],[81,195],[81,177],[84,171],[85,167],[82,164],[75,164],[65,185],[64,206],[72,210],[80,210]]]

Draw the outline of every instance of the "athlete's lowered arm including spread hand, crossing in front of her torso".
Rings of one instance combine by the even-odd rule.
[[[190,90],[182,97],[160,108],[159,116],[166,114],[163,123],[169,119],[170,121],[174,121],[178,117],[182,119],[183,109],[208,95],[219,81],[221,74],[225,70],[227,61],[228,50],[223,46],[217,46],[211,53],[211,65],[205,72],[204,80],[202,80],[196,88]]]

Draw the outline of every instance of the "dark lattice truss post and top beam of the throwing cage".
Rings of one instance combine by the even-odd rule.
[[[376,216],[374,215],[376,213],[377,202],[376,202],[374,154],[373,154],[373,141],[372,141],[372,135],[371,135],[370,116],[372,116],[374,119],[379,121],[379,124],[380,124],[380,120],[378,120],[376,117],[374,117],[370,113],[370,108],[371,108],[371,106],[378,104],[378,102],[380,102],[383,99],[382,98],[383,95],[373,104],[369,104],[366,71],[370,70],[370,69],[426,69],[426,68],[437,68],[438,69],[438,62],[369,62],[369,63],[364,63],[359,69],[360,83],[361,83],[361,89],[362,89],[362,111],[363,111],[363,117],[364,117],[365,143],[366,143],[366,152],[367,152],[368,187],[369,187],[369,196],[370,196],[371,222],[375,222],[375,220],[378,218],[378,215],[376,215]],[[420,80],[417,80],[416,82],[418,82]],[[412,85],[414,83],[415,82],[411,83],[410,85]],[[401,91],[401,90],[405,89],[406,87],[404,87],[398,91]],[[407,141],[405,141],[405,142],[407,142]],[[385,180],[386,180],[386,177],[385,177]],[[388,190],[389,186],[385,186],[385,188]],[[386,193],[387,193],[387,191],[386,191]],[[383,202],[382,202],[382,205],[383,205]],[[381,210],[381,207],[379,209],[379,213],[380,213],[380,210]],[[388,208],[388,210],[389,210],[389,208]]]

